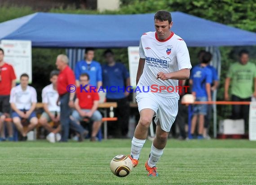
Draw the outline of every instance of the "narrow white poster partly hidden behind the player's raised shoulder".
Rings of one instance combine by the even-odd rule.
[[[131,86],[136,86],[136,76],[137,70],[139,66],[139,47],[128,47],[128,59],[129,59],[129,72],[130,72],[130,80]]]

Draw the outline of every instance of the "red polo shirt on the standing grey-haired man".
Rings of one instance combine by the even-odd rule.
[[[62,71],[60,71],[57,79],[57,91],[59,95],[69,93],[67,91],[68,85],[75,86],[75,74],[69,66],[66,66]]]

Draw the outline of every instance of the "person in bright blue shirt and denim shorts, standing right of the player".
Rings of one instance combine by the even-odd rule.
[[[211,97],[211,83],[212,83],[212,71],[208,69],[207,63],[211,61],[212,55],[205,53],[202,58],[202,63],[194,66],[191,71],[190,85],[192,85],[192,93],[195,94],[196,101],[212,101]],[[204,116],[207,115],[207,104],[194,105],[193,118],[191,123],[191,138],[194,138],[194,130],[199,115],[199,129],[198,139],[203,139],[203,126]]]

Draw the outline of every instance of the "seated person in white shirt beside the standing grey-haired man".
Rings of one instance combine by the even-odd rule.
[[[56,103],[59,97],[57,92],[58,75],[59,72],[57,70],[53,70],[50,73],[51,84],[43,88],[42,102],[44,104],[44,112],[39,119],[39,123],[50,132],[46,139],[51,143],[61,140],[61,135],[59,133],[61,131],[60,106],[57,106]],[[50,121],[53,121],[53,127],[57,126],[57,128],[53,128],[48,124]]]

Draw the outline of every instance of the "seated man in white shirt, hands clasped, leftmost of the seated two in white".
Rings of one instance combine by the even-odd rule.
[[[22,141],[26,141],[26,134],[33,130],[38,123],[35,115],[35,105],[37,103],[35,88],[28,85],[28,75],[22,74],[20,77],[20,84],[13,87],[10,94],[10,104],[13,110],[13,123],[22,135]],[[21,120],[22,119],[22,120]],[[23,129],[23,121],[29,121],[26,130]]]

